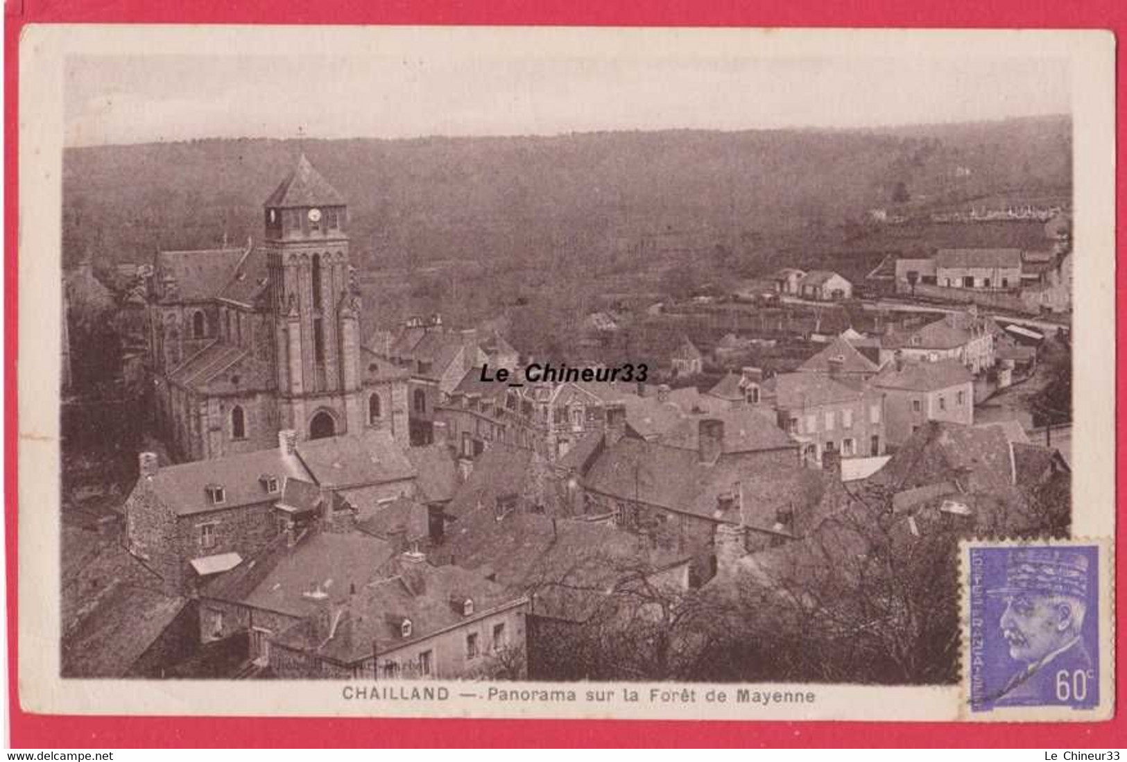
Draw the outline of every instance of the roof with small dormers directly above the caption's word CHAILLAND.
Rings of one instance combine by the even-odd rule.
[[[365,585],[348,602],[347,610],[337,609],[346,619],[338,620],[334,637],[320,641],[305,620],[283,632],[278,641],[352,664],[371,657],[373,646],[376,655],[385,654],[465,621],[468,618],[451,603],[452,596],[473,601],[471,617],[523,603],[523,596],[458,566],[400,564],[399,574]],[[411,635],[407,638],[400,630],[403,618],[411,620]]]

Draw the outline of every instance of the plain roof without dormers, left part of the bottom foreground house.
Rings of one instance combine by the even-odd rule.
[[[292,548],[279,537],[255,558],[205,585],[202,595],[308,617],[321,597],[339,600],[381,578],[394,555],[390,543],[363,532],[313,530]],[[316,591],[326,595],[318,597]]]

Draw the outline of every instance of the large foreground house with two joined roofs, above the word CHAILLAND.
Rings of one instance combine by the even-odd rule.
[[[250,656],[281,679],[454,679],[523,652],[526,601],[481,575],[432,567],[355,532],[278,543],[208,585],[205,638],[250,631]],[[521,662],[508,677],[521,676]]]

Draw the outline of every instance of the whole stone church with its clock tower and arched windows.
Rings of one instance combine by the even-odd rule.
[[[156,425],[177,460],[390,433],[408,372],[361,345],[348,206],[302,154],[263,205],[261,243],[158,251],[149,292]]]

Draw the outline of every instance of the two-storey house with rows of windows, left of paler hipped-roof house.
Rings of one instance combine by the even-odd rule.
[[[763,384],[763,405],[801,444],[802,461],[881,455],[887,446],[884,396],[857,380],[829,373],[782,373]]]

